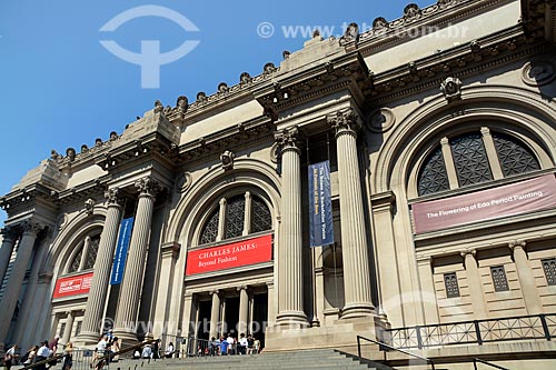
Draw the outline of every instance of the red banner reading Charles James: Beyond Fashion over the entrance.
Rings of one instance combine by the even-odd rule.
[[[186,276],[268,262],[272,259],[272,234],[187,252]]]

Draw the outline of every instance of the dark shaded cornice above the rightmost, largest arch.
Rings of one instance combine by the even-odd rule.
[[[368,104],[380,106],[418,91],[437,89],[447,76],[461,79],[549,48],[539,34],[525,34],[523,27],[517,24],[408,66],[378,73],[364,92]]]

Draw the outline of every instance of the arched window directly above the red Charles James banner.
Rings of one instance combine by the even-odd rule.
[[[222,198],[201,228],[199,244],[247,236],[272,229],[270,209],[249,191]]]

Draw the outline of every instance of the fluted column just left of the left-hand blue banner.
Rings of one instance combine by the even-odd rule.
[[[118,230],[121,220],[121,198],[118,189],[110,189],[106,193],[108,210],[102,234],[100,236],[99,251],[95,261],[91,289],[87,298],[83,323],[78,342],[83,344],[97,343],[102,331],[102,314],[105,311],[112,268],[113,251],[118,240]]]

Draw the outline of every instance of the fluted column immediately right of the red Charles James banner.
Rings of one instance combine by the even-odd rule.
[[[281,147],[282,222],[278,248],[278,316],[276,322],[307,327],[301,271],[301,166],[297,127],[276,136]]]

